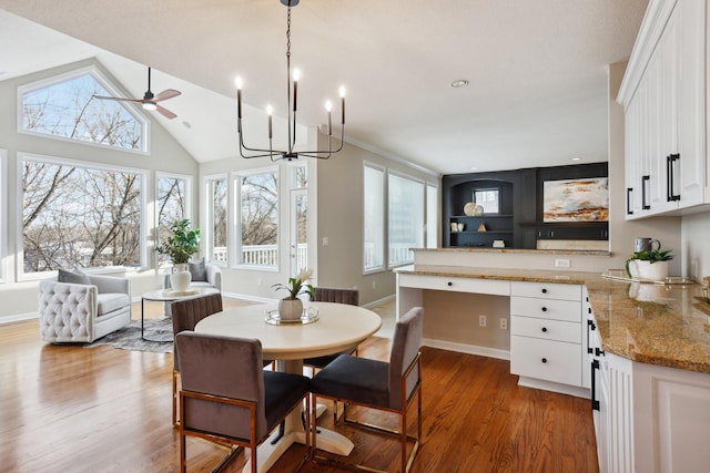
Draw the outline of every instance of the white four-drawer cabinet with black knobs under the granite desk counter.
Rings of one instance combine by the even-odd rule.
[[[581,286],[510,284],[510,372],[520,384],[585,387],[581,307]]]

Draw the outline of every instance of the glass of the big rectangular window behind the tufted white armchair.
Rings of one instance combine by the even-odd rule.
[[[143,172],[21,157],[24,274],[143,266]]]

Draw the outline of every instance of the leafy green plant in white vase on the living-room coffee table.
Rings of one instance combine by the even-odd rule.
[[[173,261],[170,285],[174,290],[184,292],[191,280],[187,261],[200,249],[200,228],[192,229],[190,219],[183,218],[173,222],[171,233],[155,250]]]

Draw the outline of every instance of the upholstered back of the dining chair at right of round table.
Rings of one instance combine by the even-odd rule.
[[[405,373],[412,361],[416,358],[422,347],[422,332],[424,329],[424,309],[415,307],[404,317],[397,320],[395,335],[392,340],[392,351],[389,358],[389,407],[402,409],[402,376]],[[407,378],[407,398],[419,380],[418,368],[409,373]]]

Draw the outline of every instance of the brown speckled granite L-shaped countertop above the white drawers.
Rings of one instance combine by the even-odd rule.
[[[408,266],[397,273],[586,285],[605,351],[710,373],[710,305],[703,301],[699,284],[639,284],[595,273],[458,266]]]

